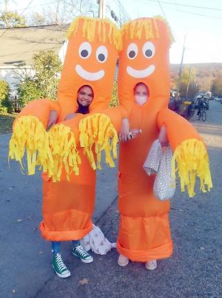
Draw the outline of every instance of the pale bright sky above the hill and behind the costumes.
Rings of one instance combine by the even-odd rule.
[[[55,3],[55,0],[33,0],[26,13],[53,2]],[[18,9],[20,13],[28,3],[30,0],[17,0],[14,3],[11,1],[10,8]],[[117,15],[119,3],[131,19],[152,17],[157,14],[167,18],[175,39],[170,50],[171,63],[181,62],[185,35],[187,37],[184,63],[222,63],[222,0],[107,0],[107,4],[117,12]]]

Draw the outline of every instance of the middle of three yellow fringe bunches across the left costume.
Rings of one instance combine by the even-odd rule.
[[[76,148],[75,136],[71,129],[63,124],[53,126],[48,132],[49,144],[54,161],[53,167],[48,168],[48,176],[53,177],[53,182],[60,181],[62,168],[66,170],[66,178],[72,172],[79,175],[80,155]]]

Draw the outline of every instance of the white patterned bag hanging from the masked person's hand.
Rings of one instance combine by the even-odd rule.
[[[154,195],[165,201],[174,196],[176,181],[172,179],[172,150],[169,146],[163,151],[160,142],[156,140],[149,150],[144,168],[148,175],[156,172]]]

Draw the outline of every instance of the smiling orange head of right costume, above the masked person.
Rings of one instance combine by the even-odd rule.
[[[155,109],[167,106],[170,92],[169,33],[164,21],[155,18],[133,20],[122,28],[122,52],[118,90],[120,103],[131,106],[133,88],[145,83],[149,105]],[[140,99],[140,102],[145,99]]]

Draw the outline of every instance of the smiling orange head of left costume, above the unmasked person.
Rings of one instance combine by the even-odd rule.
[[[85,85],[91,86],[94,95],[90,112],[108,108],[120,46],[120,31],[110,21],[88,17],[73,20],[57,92],[61,119],[78,109],[73,99]]]

